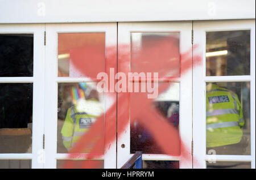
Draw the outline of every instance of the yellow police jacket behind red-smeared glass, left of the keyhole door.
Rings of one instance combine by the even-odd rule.
[[[88,101],[88,100],[86,100]],[[90,101],[90,100],[89,100]],[[91,101],[93,102],[93,101]],[[98,110],[97,102],[89,105],[91,109]],[[88,105],[88,104],[87,104]],[[87,112],[86,112],[87,111]],[[77,105],[71,106],[68,109],[67,115],[63,127],[61,129],[61,135],[64,146],[69,150],[77,142],[80,136],[84,135],[89,130],[90,126],[96,121],[98,115],[102,113],[102,109],[96,113],[88,112],[88,108],[85,111],[77,110]]]

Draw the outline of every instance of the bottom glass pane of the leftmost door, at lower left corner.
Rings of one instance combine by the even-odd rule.
[[[0,169],[31,169],[31,160],[0,160]]]

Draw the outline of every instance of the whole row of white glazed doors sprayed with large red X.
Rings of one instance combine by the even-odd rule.
[[[255,168],[255,20],[0,27],[0,168]]]

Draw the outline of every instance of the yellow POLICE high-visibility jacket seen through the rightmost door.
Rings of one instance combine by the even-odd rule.
[[[236,93],[217,84],[207,85],[207,147],[237,144],[244,125],[243,112]]]

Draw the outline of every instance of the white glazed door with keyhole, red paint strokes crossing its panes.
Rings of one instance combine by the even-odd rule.
[[[118,73],[139,89],[118,92],[117,168],[136,151],[143,168],[192,168],[191,40],[192,22],[118,23]]]

